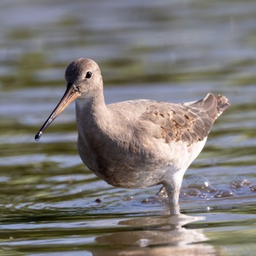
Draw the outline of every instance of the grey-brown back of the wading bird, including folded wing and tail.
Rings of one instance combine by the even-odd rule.
[[[204,99],[188,103],[157,102],[138,99],[108,105],[127,132],[148,134],[165,143],[195,143],[208,136],[212,124],[230,103],[226,97],[207,94]]]

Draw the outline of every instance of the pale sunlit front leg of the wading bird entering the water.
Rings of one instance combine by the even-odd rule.
[[[179,179],[173,179],[172,181],[166,181],[165,183],[163,183],[170,203],[170,215],[180,214],[178,197],[181,189],[181,181]]]

